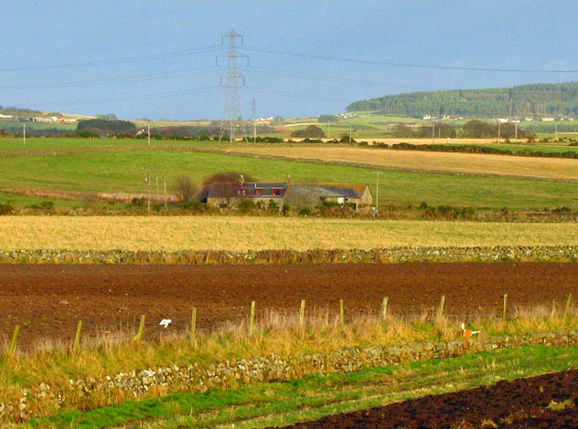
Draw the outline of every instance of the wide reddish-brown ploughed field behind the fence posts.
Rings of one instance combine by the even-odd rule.
[[[149,332],[160,319],[185,329],[198,308],[198,327],[246,319],[257,309],[296,312],[338,309],[347,314],[380,309],[389,297],[394,313],[432,310],[445,295],[445,311],[500,314],[510,309],[578,296],[578,264],[337,264],[264,266],[0,265],[0,334],[22,325],[20,344],[43,337],[69,340],[79,319],[84,332],[106,327],[134,330],[141,314]]]

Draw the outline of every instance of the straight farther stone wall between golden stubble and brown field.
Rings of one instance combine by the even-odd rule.
[[[26,264],[336,264],[402,262],[578,262],[578,246],[383,247],[369,249],[144,250],[22,249],[0,250],[0,263]]]

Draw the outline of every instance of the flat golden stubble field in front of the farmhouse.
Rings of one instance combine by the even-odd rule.
[[[578,245],[575,224],[241,216],[1,216],[0,249],[260,250]]]

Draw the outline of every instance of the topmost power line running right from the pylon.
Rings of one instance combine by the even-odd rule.
[[[373,64],[376,66],[388,66],[388,67],[406,67],[406,68],[434,68],[442,70],[463,70],[463,71],[498,71],[498,72],[510,72],[510,73],[578,73],[578,70],[557,70],[557,69],[530,69],[530,68],[479,68],[479,67],[456,67],[456,66],[430,66],[425,64],[412,64],[412,63],[396,63],[391,61],[375,61],[371,59],[360,59],[360,58],[345,58],[345,57],[333,57],[333,56],[323,56],[314,54],[305,54],[299,52],[287,52],[279,51],[274,49],[267,49],[264,47],[246,47],[248,50],[255,52],[266,52],[269,54],[279,54],[286,55],[290,57],[300,57],[300,58],[313,58],[313,59],[324,59],[328,61],[343,61],[357,64]]]

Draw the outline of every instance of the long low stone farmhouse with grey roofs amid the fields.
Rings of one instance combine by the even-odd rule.
[[[245,182],[241,176],[238,183],[213,183],[201,193],[201,201],[212,206],[232,207],[242,200],[255,204],[273,201],[280,207],[317,207],[324,203],[351,204],[356,210],[369,209],[373,197],[365,184],[294,184]]]

